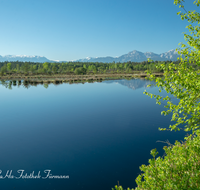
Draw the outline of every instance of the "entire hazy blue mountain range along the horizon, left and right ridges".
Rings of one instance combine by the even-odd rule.
[[[170,50],[168,52],[162,53],[162,54],[156,54],[153,52],[145,52],[142,53],[140,51],[131,51],[127,54],[124,54],[119,57],[87,57],[85,59],[79,59],[79,60],[73,60],[73,62],[103,62],[103,63],[112,63],[112,62],[142,62],[147,61],[147,58],[151,58],[154,61],[176,61],[179,57],[178,53],[175,50]],[[6,55],[6,56],[0,56],[0,62],[3,61],[23,61],[23,62],[59,62],[47,59],[44,56],[27,56],[27,55]],[[60,61],[62,62],[62,61]],[[66,61],[64,61],[66,62]]]

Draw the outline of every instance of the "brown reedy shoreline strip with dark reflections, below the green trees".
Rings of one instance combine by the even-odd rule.
[[[155,76],[163,76],[163,73],[153,73]],[[148,79],[147,74],[98,74],[98,75],[54,75],[54,76],[21,76],[21,77],[1,77],[0,83],[11,89],[11,86],[23,85],[26,88],[29,86],[44,85],[48,87],[49,84],[59,85],[63,83],[94,83],[102,82],[104,80],[131,80],[134,78]],[[8,83],[6,82],[8,81]]]

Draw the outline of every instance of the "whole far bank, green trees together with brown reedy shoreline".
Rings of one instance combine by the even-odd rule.
[[[174,62],[176,65],[180,61]],[[94,63],[94,62],[0,62],[0,83],[9,89],[23,85],[26,88],[38,84],[101,82],[103,80],[148,78],[146,71],[155,76],[162,76],[160,65],[168,67],[171,61],[143,61],[125,63]],[[196,67],[196,64],[193,64]],[[159,69],[158,69],[159,68]],[[198,68],[197,68],[198,69]],[[9,81],[9,82],[8,82]]]

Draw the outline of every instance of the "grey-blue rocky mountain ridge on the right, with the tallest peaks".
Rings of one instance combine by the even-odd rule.
[[[154,60],[154,61],[176,61],[177,58],[179,57],[179,54],[176,52],[176,50],[170,50],[165,53],[161,54],[156,54],[153,52],[140,52],[140,51],[131,51],[127,54],[124,54],[120,57],[87,57],[85,59],[79,59],[76,61],[79,62],[103,62],[103,63],[111,63],[111,62],[142,62],[142,61],[147,61],[148,58]]]

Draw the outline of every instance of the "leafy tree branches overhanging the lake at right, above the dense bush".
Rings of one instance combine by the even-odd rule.
[[[184,8],[182,0],[175,0],[174,3]],[[199,1],[194,3],[199,5]],[[178,14],[182,19],[193,23],[187,26],[191,35],[184,34],[187,44],[181,44],[181,48],[177,49],[180,54],[180,63],[178,65],[170,63],[168,67],[164,64],[157,65],[157,68],[164,71],[164,77],[155,78],[151,75],[150,78],[156,80],[160,91],[167,91],[173,98],[179,99],[179,103],[174,104],[172,97],[169,96],[162,97],[147,92],[145,94],[154,96],[158,104],[161,104],[161,100],[167,101],[165,106],[167,111],[163,111],[162,114],[172,113],[172,121],[176,123],[170,126],[171,130],[180,130],[178,126],[184,124],[186,131],[195,132],[200,128],[200,14],[196,11],[178,12]],[[192,67],[192,64],[196,67]],[[166,128],[160,130],[166,130]]]

